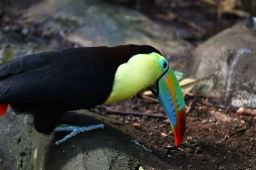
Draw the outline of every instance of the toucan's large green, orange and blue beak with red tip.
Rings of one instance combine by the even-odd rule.
[[[181,87],[172,69],[168,68],[150,90],[166,112],[175,136],[175,145],[179,146],[186,131],[186,109]]]

